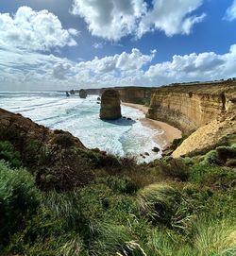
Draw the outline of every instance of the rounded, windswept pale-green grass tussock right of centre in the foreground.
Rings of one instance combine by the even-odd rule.
[[[165,183],[152,184],[139,192],[139,205],[142,213],[154,222],[170,225],[177,211],[180,193]]]

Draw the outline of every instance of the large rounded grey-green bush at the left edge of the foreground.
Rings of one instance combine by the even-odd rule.
[[[10,169],[0,162],[0,241],[22,228],[39,205],[34,179],[24,170]]]

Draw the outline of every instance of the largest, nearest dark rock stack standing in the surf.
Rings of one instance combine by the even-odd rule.
[[[121,118],[121,96],[119,92],[108,89],[101,96],[100,118],[115,120]]]

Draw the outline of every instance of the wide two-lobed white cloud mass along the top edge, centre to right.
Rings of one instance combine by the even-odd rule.
[[[161,30],[167,36],[190,34],[193,26],[206,17],[194,15],[203,0],[74,0],[72,13],[82,17],[90,32],[110,41],[127,35],[142,37],[148,31]]]

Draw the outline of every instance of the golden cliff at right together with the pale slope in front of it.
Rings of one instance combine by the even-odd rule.
[[[236,131],[236,82],[174,85],[151,96],[147,117],[169,123],[190,135],[173,157],[211,149]]]

